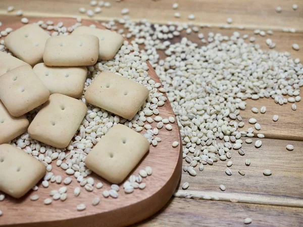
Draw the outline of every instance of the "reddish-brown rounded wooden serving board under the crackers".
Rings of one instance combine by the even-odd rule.
[[[38,21],[30,19],[30,23]],[[54,23],[64,22],[64,26],[68,27],[75,24],[75,19],[71,18],[43,18],[43,21],[52,20]],[[89,26],[95,24],[98,28],[104,28],[99,23],[93,21],[83,21],[82,25]],[[23,24],[19,22],[6,23],[2,28],[11,27],[14,30],[20,28]],[[149,66],[149,76],[153,80],[160,82],[157,74]],[[165,102],[164,106],[158,107],[160,115],[163,118],[174,116],[172,107],[169,101]],[[152,116],[155,117],[155,116]],[[156,127],[156,122],[151,126]],[[125,194],[123,189],[120,189],[119,197],[104,198],[102,192],[110,189],[110,183],[102,178],[92,174],[95,184],[98,182],[104,183],[102,189],[94,188],[93,192],[87,192],[84,187],[81,187],[81,193],[78,197],[73,195],[75,187],[80,187],[79,183],[72,176],[72,183],[67,186],[68,197],[62,202],[60,200],[53,201],[50,205],[44,205],[43,201],[49,196],[49,191],[58,190],[65,186],[63,183],[50,183],[48,188],[43,188],[39,183],[38,191],[30,191],[21,199],[14,199],[6,196],[6,199],[1,202],[0,209],[3,215],[0,217],[0,226],[125,226],[140,220],[143,220],[158,210],[160,210],[171,198],[181,176],[182,155],[181,155],[181,140],[177,126],[177,121],[171,124],[172,131],[165,128],[159,130],[159,137],[162,142],[156,147],[150,145],[149,153],[145,155],[143,160],[137,165],[133,173],[138,174],[139,169],[146,166],[153,168],[153,174],[143,179],[146,183],[144,190],[136,189],[132,194]],[[145,133],[145,130],[142,134]],[[172,147],[174,141],[179,141],[180,145],[176,148]],[[61,175],[63,179],[68,175],[56,166],[56,161],[53,161],[54,175]],[[39,195],[37,201],[31,201],[30,196],[33,194]],[[97,206],[92,206],[93,198],[99,197],[100,203]],[[76,206],[84,203],[86,209],[77,211]]]

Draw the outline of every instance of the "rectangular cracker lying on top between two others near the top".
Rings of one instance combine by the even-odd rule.
[[[92,66],[98,60],[99,40],[93,35],[52,36],[46,41],[46,66]]]

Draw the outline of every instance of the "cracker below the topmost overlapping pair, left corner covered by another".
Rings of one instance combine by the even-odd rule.
[[[86,67],[49,67],[39,63],[33,70],[51,94],[79,98],[83,93]]]

